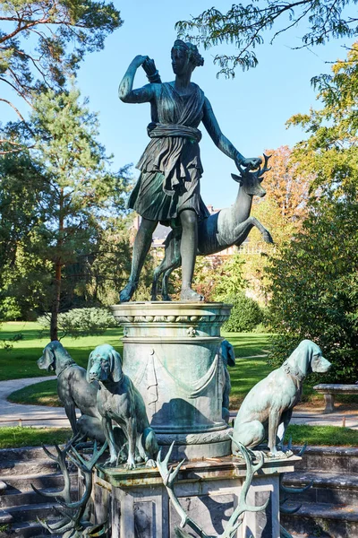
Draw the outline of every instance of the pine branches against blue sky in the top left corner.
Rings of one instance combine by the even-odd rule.
[[[123,21],[113,3],[93,0],[0,0],[0,82],[31,106],[34,89],[64,87],[86,54],[104,47]],[[0,101],[29,126],[12,100]],[[20,150],[14,135],[3,152]]]

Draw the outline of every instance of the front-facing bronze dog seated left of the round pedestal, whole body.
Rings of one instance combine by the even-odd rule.
[[[128,459],[125,466],[134,469],[135,461],[140,460],[146,462],[147,466],[155,467],[158,454],[156,434],[149,427],[141,394],[124,374],[121,356],[111,345],[98,345],[90,353],[87,379],[89,382],[99,382],[98,411],[102,415],[103,430],[110,452],[107,463],[116,464],[118,456],[113,420],[123,429],[128,441]]]

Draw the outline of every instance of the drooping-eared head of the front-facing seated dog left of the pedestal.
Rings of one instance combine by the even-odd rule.
[[[118,383],[123,377],[121,355],[109,343],[98,345],[90,352],[87,367],[87,381],[115,381]]]

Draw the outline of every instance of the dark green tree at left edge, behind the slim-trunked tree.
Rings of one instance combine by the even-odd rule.
[[[47,304],[49,267],[39,230],[50,193],[27,152],[0,158],[0,183],[0,317],[15,319]]]

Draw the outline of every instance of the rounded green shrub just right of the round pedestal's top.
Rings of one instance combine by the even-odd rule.
[[[227,297],[225,302],[232,303],[234,306],[231,310],[231,316],[223,325],[224,331],[247,333],[263,321],[259,303],[250,297],[246,297],[244,293]]]

